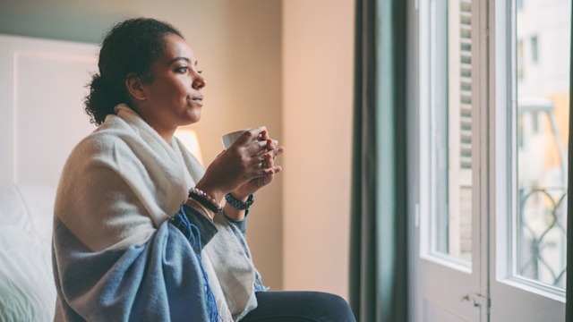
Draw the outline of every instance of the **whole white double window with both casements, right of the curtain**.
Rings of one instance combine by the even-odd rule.
[[[414,319],[562,320],[570,0],[419,4]]]

